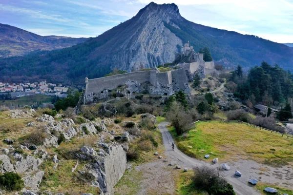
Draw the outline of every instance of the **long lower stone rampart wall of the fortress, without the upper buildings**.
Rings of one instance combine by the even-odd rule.
[[[137,88],[140,88],[142,83],[149,83],[147,90],[153,95],[171,95],[179,90],[190,93],[184,68],[162,73],[158,70],[150,70],[103,78],[85,78],[84,103],[92,102],[94,98],[101,97],[105,91],[117,89],[129,81],[136,83]]]

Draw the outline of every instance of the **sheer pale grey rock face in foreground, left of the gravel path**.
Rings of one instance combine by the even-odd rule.
[[[99,152],[98,154],[91,148],[83,147],[78,157],[93,161],[87,167],[88,172],[95,177],[91,185],[99,187],[104,195],[114,195],[114,186],[121,179],[127,167],[126,152],[123,147],[121,145],[109,146],[106,153]]]

